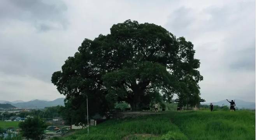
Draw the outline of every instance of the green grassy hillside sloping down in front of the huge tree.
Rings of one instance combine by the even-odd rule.
[[[187,111],[112,119],[63,140],[255,140],[255,112]]]

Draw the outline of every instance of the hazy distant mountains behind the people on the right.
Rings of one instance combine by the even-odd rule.
[[[231,101],[231,100],[230,100]],[[227,100],[222,100],[218,102],[210,102],[213,103],[213,105],[227,105],[230,106],[230,103]],[[209,105],[210,103],[201,103],[202,105]],[[243,101],[243,100],[235,100],[236,107],[242,109],[255,109],[255,103],[254,102],[248,102],[248,101]]]

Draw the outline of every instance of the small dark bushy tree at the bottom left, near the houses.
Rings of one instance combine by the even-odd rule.
[[[40,140],[47,125],[39,117],[28,118],[19,124],[23,137],[32,140]]]

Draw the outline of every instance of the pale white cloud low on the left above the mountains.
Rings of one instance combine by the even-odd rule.
[[[32,99],[56,99],[63,98],[56,87],[49,82],[44,82],[26,76],[5,75],[0,73],[0,97],[1,100],[24,100]]]

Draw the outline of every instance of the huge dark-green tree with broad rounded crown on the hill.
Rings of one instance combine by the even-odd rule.
[[[169,101],[173,94],[199,96],[203,77],[194,54],[193,44],[184,37],[127,20],[113,25],[108,35],[84,39],[62,71],[53,73],[52,82],[67,98],[80,98],[79,92],[88,95],[98,111],[121,100],[137,110],[160,95]]]

